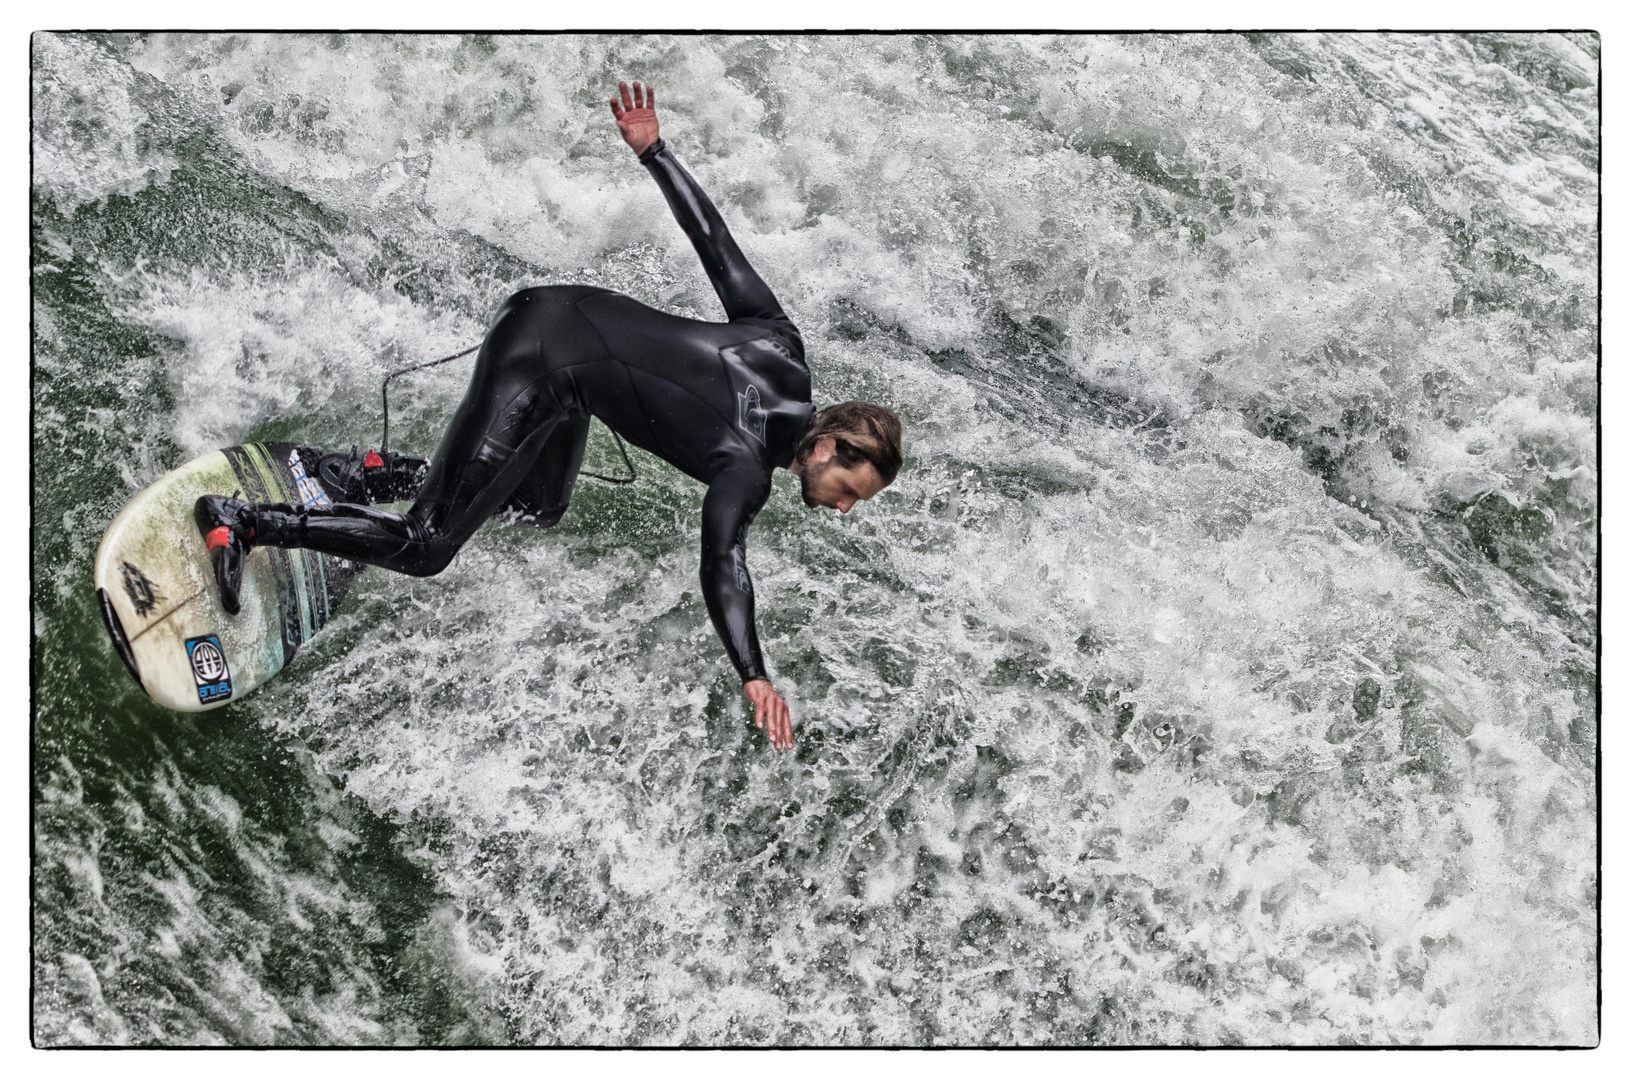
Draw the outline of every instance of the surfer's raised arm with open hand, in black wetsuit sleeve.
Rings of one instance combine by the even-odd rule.
[[[639,83],[634,83],[633,95],[628,83],[618,83],[618,91],[623,101],[620,104],[617,98],[612,100],[612,116],[617,117],[623,142],[639,155],[639,163],[652,175],[662,189],[662,197],[669,201],[674,219],[690,237],[703,269],[708,271],[708,281],[719,294],[726,318],[786,320],[770,285],[736,246],[719,210],[669,152],[667,144],[657,137],[657,93]]]

